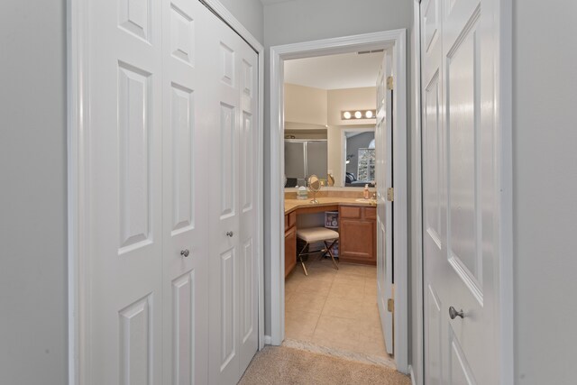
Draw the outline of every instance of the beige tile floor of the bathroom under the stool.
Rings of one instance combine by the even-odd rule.
[[[330,260],[300,263],[285,280],[285,335],[291,340],[389,357],[377,307],[377,269]]]

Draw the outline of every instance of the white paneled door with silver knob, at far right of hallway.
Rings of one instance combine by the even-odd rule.
[[[492,0],[421,3],[427,384],[495,384]]]

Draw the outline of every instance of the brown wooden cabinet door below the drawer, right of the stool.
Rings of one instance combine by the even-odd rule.
[[[341,261],[374,263],[375,221],[341,218]]]

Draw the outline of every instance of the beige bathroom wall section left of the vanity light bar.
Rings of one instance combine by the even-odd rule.
[[[285,84],[285,122],[325,126],[326,111],[325,89]]]

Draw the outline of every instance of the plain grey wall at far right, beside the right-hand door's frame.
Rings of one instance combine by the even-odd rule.
[[[514,0],[515,382],[577,378],[577,3]]]

